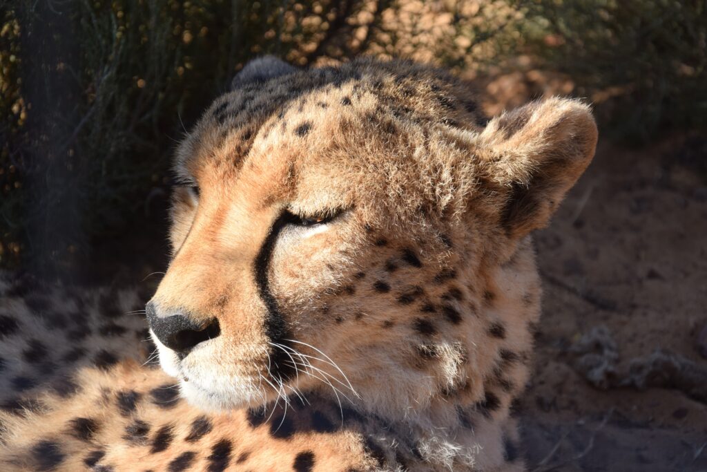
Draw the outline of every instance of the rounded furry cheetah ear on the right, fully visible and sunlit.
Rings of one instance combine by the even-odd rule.
[[[551,98],[493,118],[479,135],[488,178],[508,189],[501,224],[511,238],[547,225],[597,146],[590,107]]]

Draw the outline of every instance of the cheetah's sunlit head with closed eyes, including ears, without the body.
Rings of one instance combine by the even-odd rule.
[[[234,84],[177,152],[173,258],[147,309],[183,396],[321,390],[385,410],[476,394],[480,337],[524,336],[486,314],[491,272],[590,161],[585,105],[481,126],[462,84],[404,62],[261,59]]]

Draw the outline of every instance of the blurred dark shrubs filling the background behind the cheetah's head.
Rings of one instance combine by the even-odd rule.
[[[410,57],[476,79],[489,110],[514,105],[518,90],[568,93],[597,103],[605,135],[645,140],[707,122],[704,10],[698,0],[0,0],[0,265],[62,270],[96,237],[138,233],[168,191],[175,142],[252,57]]]

